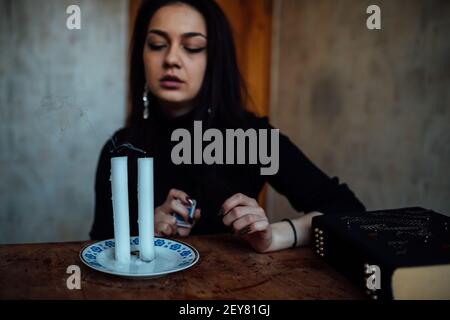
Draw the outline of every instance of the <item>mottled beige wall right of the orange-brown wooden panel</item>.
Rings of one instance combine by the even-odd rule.
[[[450,2],[279,0],[274,27],[272,122],[369,209],[449,214]]]

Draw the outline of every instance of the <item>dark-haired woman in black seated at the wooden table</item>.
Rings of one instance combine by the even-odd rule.
[[[95,220],[91,238],[113,237],[110,158],[145,152],[155,165],[155,232],[188,236],[234,232],[258,252],[309,243],[311,219],[320,214],[365,210],[337,178],[311,163],[284,135],[279,170],[261,176],[259,165],[174,165],[171,134],[193,122],[203,129],[273,129],[267,118],[245,111],[245,88],[236,61],[230,25],[211,0],[145,1],[132,39],[131,113],[128,125],[102,150],[96,176]],[[137,234],[136,164],[129,162],[131,233]],[[306,214],[269,224],[255,200],[265,182]],[[189,221],[187,207],[198,208]],[[177,226],[174,213],[190,227]]]

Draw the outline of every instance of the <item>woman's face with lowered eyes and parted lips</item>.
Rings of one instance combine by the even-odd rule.
[[[203,83],[207,62],[206,22],[194,8],[160,8],[148,27],[143,58],[151,93],[170,114],[190,111]]]

